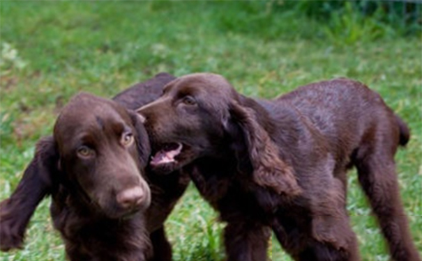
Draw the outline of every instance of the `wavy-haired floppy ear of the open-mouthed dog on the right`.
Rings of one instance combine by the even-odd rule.
[[[237,135],[232,135],[232,138],[235,143],[243,143],[234,144],[234,150],[246,150],[253,168],[253,180],[259,186],[271,189],[278,194],[284,193],[287,196],[301,193],[292,167],[280,159],[276,143],[259,125],[256,117],[253,109],[241,106],[237,102],[232,102],[229,105],[229,122],[231,123],[228,124],[236,125],[238,129],[235,131],[238,132]],[[233,132],[236,126],[229,127],[229,129],[231,128]],[[242,159],[238,158],[238,160]]]

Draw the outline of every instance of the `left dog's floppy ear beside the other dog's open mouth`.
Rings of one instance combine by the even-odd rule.
[[[137,143],[138,154],[140,155],[141,166],[148,164],[149,155],[151,155],[151,146],[149,144],[148,134],[144,127],[144,116],[135,111],[128,111],[132,119],[133,127],[136,129],[135,141]]]

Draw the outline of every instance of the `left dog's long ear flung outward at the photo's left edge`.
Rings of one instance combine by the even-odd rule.
[[[29,219],[54,186],[59,154],[52,136],[40,139],[35,155],[10,198],[0,203],[0,248],[21,248]]]

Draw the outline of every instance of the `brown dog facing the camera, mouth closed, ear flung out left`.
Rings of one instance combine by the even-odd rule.
[[[135,108],[172,79],[158,74],[114,100]],[[163,223],[189,179],[146,175],[148,136],[140,117],[116,102],[81,94],[61,111],[54,135],[41,139],[17,189],[0,205],[1,250],[20,247],[31,214],[51,194],[54,227],[70,260],[171,260]]]

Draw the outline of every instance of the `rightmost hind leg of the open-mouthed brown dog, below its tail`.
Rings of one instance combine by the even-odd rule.
[[[393,260],[420,261],[400,200],[393,155],[387,155],[389,151],[379,146],[358,154],[359,182],[377,216]]]

